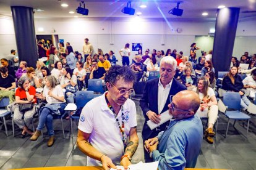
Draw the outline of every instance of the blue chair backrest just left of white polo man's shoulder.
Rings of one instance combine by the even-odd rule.
[[[75,96],[75,104],[77,105],[77,108],[81,108],[92,99],[93,91],[77,91]]]

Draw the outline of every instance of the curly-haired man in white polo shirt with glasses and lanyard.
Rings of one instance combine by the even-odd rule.
[[[134,92],[135,74],[129,67],[115,65],[106,74],[108,91],[85,105],[79,121],[77,145],[88,156],[87,166],[129,166],[139,139]]]

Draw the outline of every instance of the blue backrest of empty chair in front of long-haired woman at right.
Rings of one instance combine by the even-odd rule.
[[[225,92],[223,94],[223,103],[228,108],[240,110],[241,109],[241,95],[238,92]]]

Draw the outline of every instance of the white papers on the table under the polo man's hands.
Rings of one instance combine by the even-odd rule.
[[[158,164],[159,161],[153,162],[153,163],[142,163],[142,161],[140,161],[137,164],[131,164],[129,167],[129,170],[157,170],[158,168]],[[124,166],[116,166],[117,169],[119,170],[123,170]],[[117,170],[117,169],[113,169],[111,168],[110,170]]]

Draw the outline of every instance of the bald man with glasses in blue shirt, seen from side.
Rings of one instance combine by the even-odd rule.
[[[195,92],[178,92],[168,105],[174,120],[165,131],[145,141],[153,161],[159,161],[159,170],[195,168],[203,139],[202,121],[195,115],[199,105]]]

